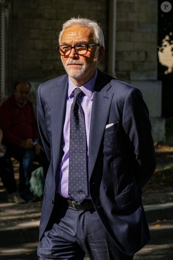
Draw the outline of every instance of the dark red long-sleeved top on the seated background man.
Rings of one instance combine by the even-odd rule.
[[[37,122],[30,101],[21,108],[14,96],[9,97],[0,106],[0,127],[4,139],[20,145],[22,140],[38,139]]]

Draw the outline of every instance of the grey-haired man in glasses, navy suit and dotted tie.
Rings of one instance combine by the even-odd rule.
[[[146,104],[137,88],[98,70],[104,36],[95,21],[64,23],[67,74],[41,84],[37,120],[50,166],[39,259],[133,259],[150,238],[142,188],[155,169]]]

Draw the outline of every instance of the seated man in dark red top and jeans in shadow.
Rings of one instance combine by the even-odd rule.
[[[35,155],[43,153],[38,142],[33,105],[28,100],[29,92],[29,82],[17,82],[13,95],[0,106],[0,127],[4,134],[4,144],[9,155],[20,162],[19,192],[25,201],[33,199],[29,181]]]

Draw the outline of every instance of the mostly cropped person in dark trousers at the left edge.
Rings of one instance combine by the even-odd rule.
[[[13,165],[10,157],[7,155],[6,148],[2,144],[3,132],[0,129],[0,177],[6,188],[8,202],[24,203],[25,201],[17,192],[17,185],[14,178]]]

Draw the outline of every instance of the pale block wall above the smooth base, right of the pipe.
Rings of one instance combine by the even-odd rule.
[[[157,79],[157,1],[117,0],[116,76]]]

